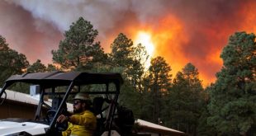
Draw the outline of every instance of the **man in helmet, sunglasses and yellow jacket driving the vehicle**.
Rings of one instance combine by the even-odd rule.
[[[97,125],[95,115],[90,110],[92,101],[88,94],[78,92],[73,98],[73,115],[59,115],[57,122],[69,121],[69,127],[62,132],[64,136],[92,136]]]

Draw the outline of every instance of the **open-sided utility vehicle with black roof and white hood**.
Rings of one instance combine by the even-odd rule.
[[[0,91],[0,101],[7,98],[7,88],[17,82],[40,87],[40,99],[33,119],[15,117],[0,120],[0,135],[58,135],[68,123],[56,122],[60,114],[69,114],[67,103],[78,92],[86,92],[92,99],[92,109],[97,115],[95,135],[126,135],[134,124],[131,110],[118,106],[117,99],[123,79],[120,73],[51,72],[13,75]],[[48,104],[47,99],[52,103]],[[1,106],[0,106],[1,108]],[[1,118],[1,117],[0,117]]]

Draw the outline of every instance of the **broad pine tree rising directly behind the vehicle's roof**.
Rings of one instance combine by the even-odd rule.
[[[90,70],[93,68],[92,63],[107,59],[100,43],[94,43],[97,30],[83,17],[72,23],[64,36],[59,49],[52,50],[54,63],[58,63],[64,70]]]

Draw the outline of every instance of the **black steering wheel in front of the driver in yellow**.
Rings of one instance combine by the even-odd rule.
[[[55,113],[57,112],[57,110],[48,110],[47,113],[46,113],[46,120],[48,121],[48,123],[50,124],[50,115],[55,115]],[[54,117],[52,117],[54,118]],[[58,130],[58,131],[64,131],[66,129],[68,129],[69,127],[69,124],[68,124],[68,121],[64,121],[62,123],[59,123],[59,122],[56,122],[55,124],[55,128]]]

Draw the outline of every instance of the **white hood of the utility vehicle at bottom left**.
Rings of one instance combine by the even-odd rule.
[[[14,122],[0,120],[0,135],[20,135],[22,134],[45,134],[45,128],[49,125],[34,122]]]

